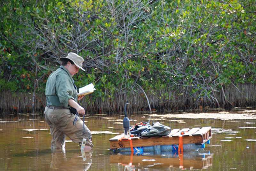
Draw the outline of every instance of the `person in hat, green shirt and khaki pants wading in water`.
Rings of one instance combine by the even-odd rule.
[[[68,53],[68,56],[60,57],[60,61],[60,68],[49,76],[45,87],[44,114],[52,135],[51,149],[65,151],[65,139],[68,136],[80,146],[85,138],[85,149],[90,150],[93,147],[92,134],[76,115],[76,112],[85,114],[84,108],[77,103],[84,96],[77,96],[77,88],[72,78],[79,69],[85,71],[82,68],[84,59],[76,53]]]

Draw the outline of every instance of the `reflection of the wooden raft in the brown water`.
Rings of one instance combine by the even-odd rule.
[[[212,166],[213,154],[210,151],[199,152],[154,152],[140,155],[128,154],[128,152],[116,153],[110,156],[110,163],[117,163],[125,169],[140,168],[158,169],[163,167],[176,167],[181,169],[205,169]],[[123,168],[122,168],[123,169]],[[121,170],[122,170],[121,169]]]

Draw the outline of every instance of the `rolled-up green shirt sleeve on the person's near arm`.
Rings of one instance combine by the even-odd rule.
[[[56,94],[59,97],[60,103],[64,107],[68,107],[68,100],[74,99],[74,85],[66,74],[56,76]]]

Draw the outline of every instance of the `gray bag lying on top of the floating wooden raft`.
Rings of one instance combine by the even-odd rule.
[[[141,132],[142,137],[153,137],[153,136],[164,136],[169,135],[171,128],[160,124],[159,122],[154,123],[152,126],[148,127],[146,130]]]

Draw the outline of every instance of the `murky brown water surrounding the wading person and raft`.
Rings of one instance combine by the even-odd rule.
[[[148,115],[132,116],[137,123],[148,118]],[[211,144],[198,152],[184,153],[182,158],[177,153],[116,155],[108,150],[108,140],[115,134],[97,134],[97,131],[123,132],[120,124],[123,116],[93,115],[85,119],[94,133],[91,153],[83,156],[79,146],[69,139],[66,153],[52,153],[51,135],[45,130],[49,127],[44,118],[10,116],[0,120],[0,170],[148,171],[182,170],[181,166],[186,170],[256,170],[256,119],[156,118],[152,119],[160,119],[172,129],[212,126]]]

